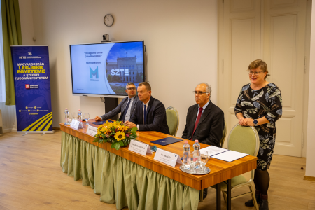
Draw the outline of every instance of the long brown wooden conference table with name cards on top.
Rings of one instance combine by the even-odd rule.
[[[94,125],[92,124],[92,122],[94,122],[94,120],[89,120],[88,123],[90,124],[90,126],[98,127],[98,125]],[[137,165],[141,165],[142,167],[146,167],[147,169],[150,169],[153,172],[157,172],[158,174],[167,176],[169,179],[178,181],[179,183],[182,183],[183,185],[186,185],[190,188],[200,190],[199,198],[200,202],[202,202],[203,200],[202,190],[216,185],[216,209],[221,209],[221,182],[225,181],[225,183],[227,184],[227,209],[231,209],[231,179],[240,174],[250,172],[251,170],[257,167],[257,157],[253,157],[251,155],[247,155],[246,157],[240,158],[239,160],[235,160],[233,162],[225,162],[223,160],[211,158],[207,163],[207,167],[211,169],[211,172],[209,174],[205,175],[187,174],[185,172],[182,172],[181,169],[179,169],[179,167],[181,166],[179,163],[176,163],[175,167],[171,167],[162,162],[154,160],[155,153],[153,154],[147,153],[144,156],[140,155],[139,153],[129,151],[128,149],[129,146],[121,147],[120,150],[117,151],[115,148],[111,148],[111,144],[108,142],[106,144],[97,144],[93,142],[94,137],[86,133],[87,125],[85,125],[85,123],[83,124],[84,124],[83,129],[81,128],[76,130],[70,127],[69,125],[64,125],[64,123],[60,123],[60,129],[62,130],[63,133],[69,134],[78,139],[82,139],[83,141],[86,141],[88,144],[92,144],[106,151],[109,151],[110,153],[125,158],[126,160],[130,160],[131,162],[134,162]],[[161,148],[165,151],[176,153],[182,156],[183,141],[179,141],[174,144],[169,144],[167,146],[161,146],[158,144],[151,143],[151,141],[155,141],[158,139],[173,137],[171,135],[152,131],[137,132],[137,135],[138,141],[144,142],[145,144],[149,144],[151,146],[155,145],[158,148]],[[181,139],[179,137],[174,138]],[[191,150],[193,150],[193,143],[194,143],[193,141],[189,141]],[[201,148],[205,148],[209,145],[200,144],[200,146]],[[111,164],[111,162],[109,162],[108,164]]]

